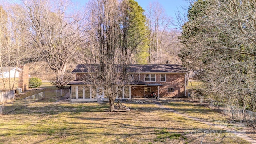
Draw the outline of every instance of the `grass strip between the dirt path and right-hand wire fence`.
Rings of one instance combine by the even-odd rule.
[[[218,112],[218,110],[211,109],[208,106],[191,99],[170,98],[163,101],[163,105],[166,108],[171,108],[180,113],[200,118],[214,124],[227,126],[232,130],[242,132],[246,136],[256,140],[256,129],[252,126],[248,126],[249,124],[247,122],[233,120],[230,116],[224,115],[223,113]]]

